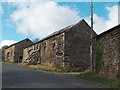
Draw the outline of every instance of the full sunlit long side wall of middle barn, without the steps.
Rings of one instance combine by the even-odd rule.
[[[47,66],[63,66],[64,54],[64,33],[41,40],[27,48],[23,52],[23,60],[28,59],[32,52],[39,49],[39,52],[33,59],[31,64],[40,62]]]

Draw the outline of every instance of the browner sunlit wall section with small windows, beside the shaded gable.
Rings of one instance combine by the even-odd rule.
[[[63,66],[64,33],[41,42],[41,60],[44,65]]]

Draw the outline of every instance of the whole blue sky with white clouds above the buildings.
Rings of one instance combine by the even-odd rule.
[[[89,1],[0,0],[0,47],[25,38],[42,39],[82,19],[90,25]],[[117,0],[93,0],[93,13],[97,34],[118,25]]]

